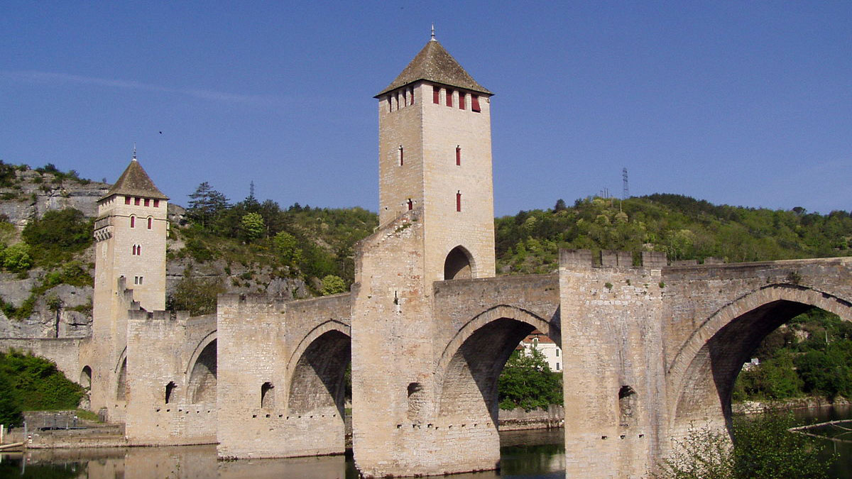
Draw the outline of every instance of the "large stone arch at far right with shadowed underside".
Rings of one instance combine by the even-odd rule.
[[[702,322],[666,371],[673,436],[696,422],[729,427],[731,393],[743,362],[770,332],[814,307],[852,321],[852,303],[843,298],[773,284],[738,297]]]

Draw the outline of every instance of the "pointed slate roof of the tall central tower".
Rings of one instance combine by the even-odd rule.
[[[464,68],[458,64],[458,61],[452,58],[452,55],[435,38],[432,38],[420,50],[420,53],[414,57],[414,60],[406,66],[406,69],[400,73],[400,76],[396,77],[388,85],[388,88],[380,91],[374,98],[378,98],[392,89],[398,89],[417,80],[428,80],[438,84],[476,91],[485,95],[493,95],[484,86],[476,83],[476,80],[468,72],[464,71]]]

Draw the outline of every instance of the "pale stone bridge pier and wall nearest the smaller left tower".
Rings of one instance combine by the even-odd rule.
[[[187,316],[186,312],[142,310],[130,314],[125,417],[130,444],[216,442],[216,395],[199,400],[191,394],[193,359],[199,358],[199,348],[213,340],[216,317]],[[208,380],[215,387],[215,372]]]

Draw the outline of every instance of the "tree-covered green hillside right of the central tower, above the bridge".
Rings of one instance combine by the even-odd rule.
[[[504,274],[553,271],[559,248],[664,251],[673,261],[718,257],[729,263],[852,253],[847,211],[718,206],[676,194],[586,198],[573,206],[559,200],[550,210],[497,218],[495,226]]]

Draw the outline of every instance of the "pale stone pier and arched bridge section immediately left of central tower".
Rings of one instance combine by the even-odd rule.
[[[222,295],[217,323],[219,455],[343,453],[348,294],[289,303]],[[330,378],[337,397],[323,382]]]

